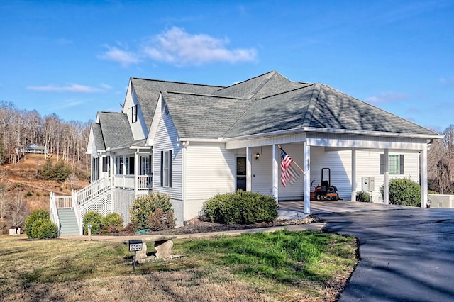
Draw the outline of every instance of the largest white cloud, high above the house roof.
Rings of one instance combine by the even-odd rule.
[[[170,30],[151,38],[143,47],[146,56],[153,60],[175,65],[202,65],[209,62],[250,62],[257,51],[250,49],[227,49],[227,38],[217,39],[209,35],[191,35],[181,28]]]

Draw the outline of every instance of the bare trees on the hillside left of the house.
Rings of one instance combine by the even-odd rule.
[[[16,164],[21,150],[34,143],[72,164],[74,172],[89,171],[85,155],[89,130],[89,121],[62,121],[55,113],[40,116],[36,110],[0,101],[0,165]]]

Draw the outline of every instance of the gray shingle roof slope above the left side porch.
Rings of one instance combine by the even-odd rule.
[[[106,148],[114,148],[133,142],[133,133],[126,114],[99,112],[98,117]]]

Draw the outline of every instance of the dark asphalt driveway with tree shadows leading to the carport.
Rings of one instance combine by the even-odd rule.
[[[324,230],[360,241],[339,301],[454,301],[454,209],[311,201],[311,212],[326,220]]]

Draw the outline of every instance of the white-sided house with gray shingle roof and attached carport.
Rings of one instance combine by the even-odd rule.
[[[74,209],[79,225],[87,211],[128,222],[134,198],[154,189],[170,194],[182,225],[211,196],[243,189],[304,200],[309,214],[311,185],[325,167],[343,199],[355,201],[362,179],[372,177],[372,199],[388,203],[389,179],[409,177],[421,184],[425,207],[427,150],[437,138],[330,86],[276,71],[231,86],[132,77],[123,111],[99,112],[92,123],[92,184],[66,206],[52,194],[51,212],[58,220],[56,208]],[[304,170],[294,184],[281,184],[279,147]]]

